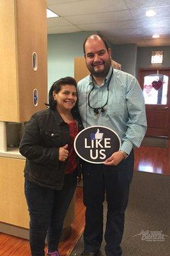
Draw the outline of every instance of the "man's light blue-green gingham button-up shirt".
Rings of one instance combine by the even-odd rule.
[[[93,109],[88,106],[89,91],[93,87],[91,76],[86,76],[78,83],[79,111],[84,128],[92,125],[103,125],[120,136],[120,150],[130,154],[133,147],[139,147],[146,132],[146,111],[141,87],[134,76],[121,70],[113,69],[109,92],[107,82],[111,76],[110,68],[104,84],[90,93],[89,104],[93,108],[100,108],[107,102],[105,111],[99,110],[94,115]]]

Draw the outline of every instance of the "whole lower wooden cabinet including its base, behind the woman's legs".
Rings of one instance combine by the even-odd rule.
[[[29,213],[24,195],[25,163],[24,159],[0,157],[0,229],[1,232],[28,239]],[[73,196],[66,213],[61,239],[68,236],[74,216],[75,197]],[[27,228],[27,233],[23,228]]]

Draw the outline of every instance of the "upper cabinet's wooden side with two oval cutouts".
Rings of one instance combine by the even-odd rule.
[[[47,5],[45,0],[16,1],[19,120],[44,109],[47,102]],[[33,69],[33,52],[37,70]],[[38,105],[33,91],[38,90]]]

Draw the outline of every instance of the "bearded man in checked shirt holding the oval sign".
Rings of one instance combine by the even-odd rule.
[[[91,35],[85,40],[84,56],[91,72],[78,83],[79,111],[84,128],[91,125],[108,127],[117,132],[122,144],[104,164],[82,164],[86,226],[81,256],[99,254],[105,196],[105,254],[120,256],[134,168],[133,147],[140,146],[146,132],[143,93],[134,76],[111,67],[111,49],[102,36]]]

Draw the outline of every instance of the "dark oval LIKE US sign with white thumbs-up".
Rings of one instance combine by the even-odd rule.
[[[90,126],[79,132],[74,141],[77,155],[94,164],[104,163],[120,147],[118,134],[104,126]]]

